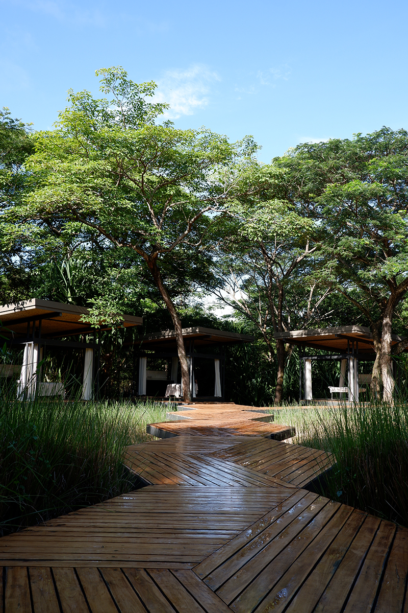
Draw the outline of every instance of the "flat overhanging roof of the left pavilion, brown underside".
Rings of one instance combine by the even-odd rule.
[[[41,337],[56,338],[67,337],[75,334],[95,332],[98,329],[91,328],[91,324],[80,321],[83,315],[89,311],[84,307],[76,305],[66,305],[61,302],[51,302],[51,300],[24,300],[14,304],[0,307],[1,333],[10,337],[11,330],[14,335],[27,335],[28,324],[41,321]],[[132,315],[122,315],[124,327],[140,326],[143,322],[141,317]],[[99,330],[110,330],[112,326],[105,326],[101,322]]]

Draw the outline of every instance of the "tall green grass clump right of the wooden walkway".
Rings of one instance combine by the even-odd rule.
[[[296,408],[275,421],[295,425],[293,442],[334,454],[324,495],[408,526],[408,404]]]

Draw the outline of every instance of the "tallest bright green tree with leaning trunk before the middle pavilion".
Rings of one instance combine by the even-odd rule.
[[[21,231],[43,241],[84,245],[93,237],[141,257],[171,314],[188,400],[182,324],[161,270],[186,247],[202,248],[256,147],[249,138],[232,144],[206,129],[157,124],[166,105],[147,101],[154,83],[133,83],[121,67],[97,74],[113,99],[70,91],[56,129],[35,135],[32,189],[7,219],[26,220]]]

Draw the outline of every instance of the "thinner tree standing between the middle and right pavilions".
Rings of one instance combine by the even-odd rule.
[[[330,289],[319,292],[313,278],[318,228],[302,205],[287,200],[285,173],[274,165],[251,167],[245,180],[250,194],[228,207],[232,225],[221,243],[218,296],[258,329],[271,362],[276,354],[279,405],[290,349],[273,335],[313,321]]]

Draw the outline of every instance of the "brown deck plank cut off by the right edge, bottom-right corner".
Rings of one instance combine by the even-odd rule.
[[[374,613],[402,611],[408,574],[408,530],[398,527]]]

